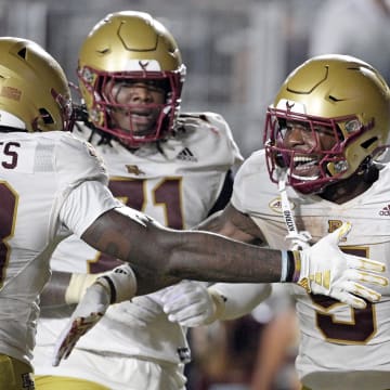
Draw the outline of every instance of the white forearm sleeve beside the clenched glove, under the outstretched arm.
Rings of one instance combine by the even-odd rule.
[[[250,313],[271,294],[271,284],[216,283],[208,288],[217,307],[216,320],[234,320]]]

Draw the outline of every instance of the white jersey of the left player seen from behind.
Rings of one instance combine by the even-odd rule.
[[[120,206],[106,183],[93,150],[69,133],[0,133],[0,353],[31,360],[50,255]]]

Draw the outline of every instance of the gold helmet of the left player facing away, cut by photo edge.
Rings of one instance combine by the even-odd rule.
[[[58,63],[39,44],[0,38],[0,126],[69,130],[70,91]]]

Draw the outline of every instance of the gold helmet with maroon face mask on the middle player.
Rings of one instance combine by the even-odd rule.
[[[179,114],[185,66],[172,35],[150,14],[122,11],[108,14],[91,30],[81,46],[78,79],[89,119],[98,128],[115,135],[128,146],[160,140],[172,130]],[[164,104],[153,131],[139,135],[132,130],[134,104],[118,103],[109,86],[116,82],[156,82],[164,86]],[[107,92],[108,89],[108,92]],[[120,128],[110,113],[127,113],[129,129]]]

